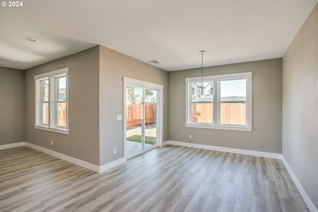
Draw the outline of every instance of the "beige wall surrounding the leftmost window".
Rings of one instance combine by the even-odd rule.
[[[34,75],[66,67],[69,68],[69,135],[34,129]],[[26,70],[25,141],[99,165],[98,78],[99,46]]]

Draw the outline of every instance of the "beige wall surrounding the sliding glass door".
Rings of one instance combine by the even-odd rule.
[[[168,73],[134,58],[100,46],[99,72],[99,136],[100,165],[123,157],[123,76],[164,86],[163,141],[168,139]],[[113,149],[117,154],[113,154]]]

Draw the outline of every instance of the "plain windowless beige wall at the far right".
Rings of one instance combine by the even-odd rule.
[[[318,4],[283,57],[282,139],[283,156],[318,208]]]

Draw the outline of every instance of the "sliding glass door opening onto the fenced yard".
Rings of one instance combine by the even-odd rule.
[[[126,156],[158,145],[156,89],[126,87]]]

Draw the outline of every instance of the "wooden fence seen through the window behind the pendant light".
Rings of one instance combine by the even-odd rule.
[[[198,123],[212,123],[213,103],[192,103],[191,121]],[[232,125],[246,125],[246,104],[220,104],[220,123]]]

